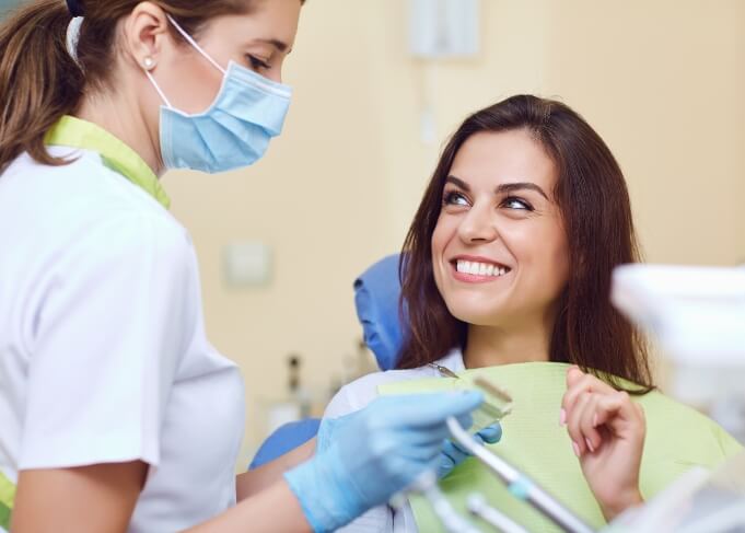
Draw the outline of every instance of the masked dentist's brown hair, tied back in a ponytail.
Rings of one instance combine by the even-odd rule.
[[[249,13],[257,0],[150,0],[190,35],[221,15]],[[302,1],[302,0],[301,0]],[[67,50],[72,15],[65,0],[35,0],[0,26],[0,173],[21,153],[60,165],[44,144],[62,115],[74,113],[84,92],[115,84],[112,66],[118,51],[118,23],[141,0],[79,0],[84,12],[77,47]],[[186,43],[171,28],[171,35]]]

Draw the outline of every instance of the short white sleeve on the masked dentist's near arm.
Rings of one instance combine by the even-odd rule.
[[[198,316],[194,262],[177,224],[124,213],[49,265],[34,313],[19,470],[158,465],[165,405]]]

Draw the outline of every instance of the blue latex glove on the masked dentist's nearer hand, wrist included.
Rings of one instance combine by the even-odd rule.
[[[328,420],[333,430],[319,432],[316,455],[284,474],[313,530],[334,531],[436,471],[445,420],[470,426],[481,402],[476,392],[384,396]]]

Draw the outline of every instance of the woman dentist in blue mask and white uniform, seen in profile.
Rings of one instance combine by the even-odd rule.
[[[451,460],[478,394],[387,397],[236,501],[243,381],[159,176],[264,154],[300,11],[32,0],[0,26],[0,531],[331,531]]]

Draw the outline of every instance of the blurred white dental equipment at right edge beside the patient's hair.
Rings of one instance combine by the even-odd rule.
[[[625,265],[610,299],[659,341],[667,392],[745,443],[745,268]]]

